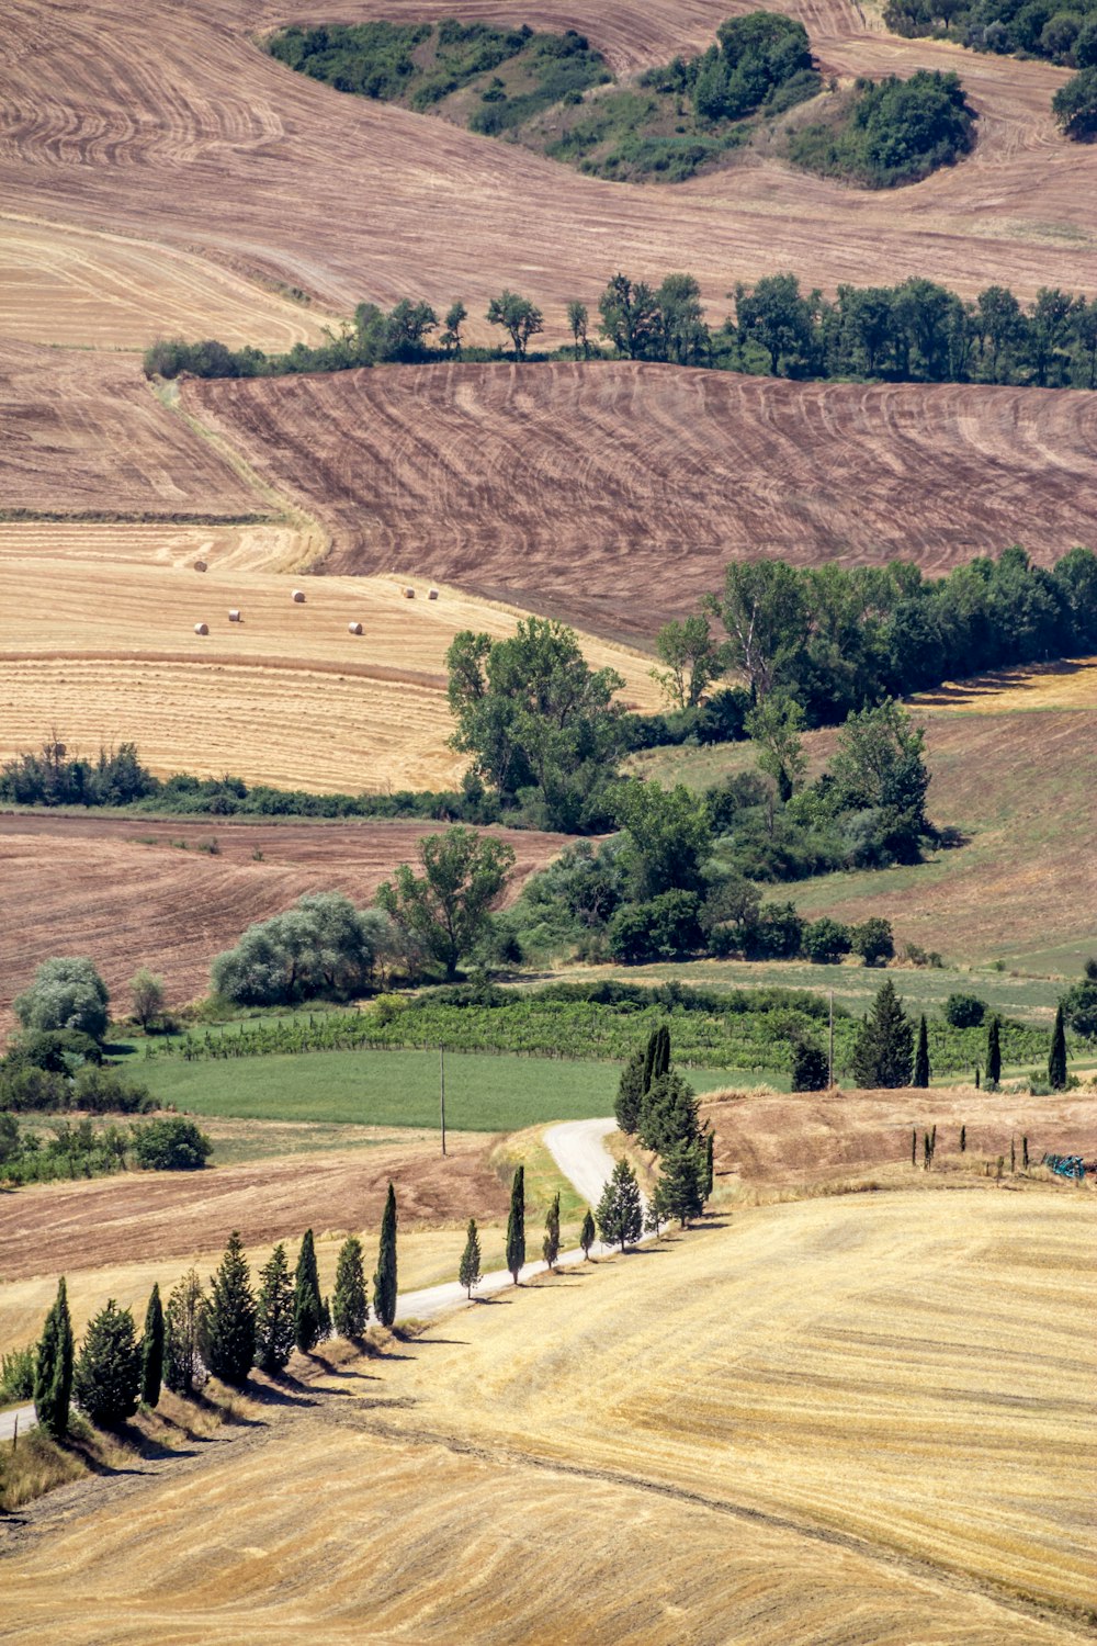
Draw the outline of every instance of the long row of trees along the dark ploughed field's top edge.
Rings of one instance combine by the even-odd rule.
[[[1085,71],[1094,74],[1097,71]],[[905,82],[910,86],[910,82]],[[1066,94],[1066,89],[1064,89]],[[1061,94],[1061,95],[1064,95]],[[888,148],[873,135],[872,109],[885,95],[900,97],[885,82],[865,92],[867,123],[850,127],[844,143],[875,145],[910,165],[901,145]],[[913,95],[906,91],[901,95]],[[934,92],[937,95],[937,92]],[[952,92],[939,89],[952,107]],[[944,119],[944,117],[942,117]],[[956,120],[962,117],[957,112]],[[934,125],[928,127],[929,135]],[[814,135],[812,135],[814,133]],[[804,128],[798,138],[814,143],[822,170],[832,132]],[[837,140],[834,140],[837,142]],[[882,161],[880,161],[882,163]],[[572,344],[536,359],[625,359],[704,365],[793,379],[852,379],[929,384],[1023,384],[1041,388],[1097,387],[1097,300],[1044,286],[1030,305],[1000,285],[975,300],[960,298],[933,280],[911,277],[898,286],[842,285],[831,300],[803,291],[793,273],[766,275],[753,286],[735,285],[735,313],[709,326],[701,286],[689,273],[668,275],[661,285],[615,273],[597,303],[597,334],[590,311],[574,298],[567,305]],[[500,359],[503,351],[469,349],[462,341],[467,309],[454,300],[442,329],[429,303],[401,300],[388,314],[359,305],[355,323],[316,347],[296,344],[289,354],[266,357],[257,349],[230,351],[215,341],[158,341],[145,354],[148,377],[262,377],[288,372],[334,372],[385,360]],[[505,290],[487,309],[490,324],[510,341],[513,359],[528,359],[530,341],[544,329],[544,314],[531,298]]]

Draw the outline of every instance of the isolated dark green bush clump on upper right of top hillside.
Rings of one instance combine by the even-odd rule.
[[[906,81],[859,79],[842,102],[837,120],[791,133],[793,165],[883,189],[954,165],[975,143],[979,115],[959,74],[916,69]]]

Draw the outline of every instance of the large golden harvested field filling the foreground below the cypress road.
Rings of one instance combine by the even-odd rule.
[[[1092,1213],[755,1208],[523,1289],[224,1450],[25,1511],[10,1638],[1081,1639]]]

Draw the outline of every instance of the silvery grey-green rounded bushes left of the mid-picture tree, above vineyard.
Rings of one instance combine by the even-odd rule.
[[[355,909],[342,892],[309,892],[217,955],[212,989],[242,1006],[352,999],[368,991],[386,937],[377,910]]]

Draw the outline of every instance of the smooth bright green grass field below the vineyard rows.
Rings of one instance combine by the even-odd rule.
[[[141,1063],[133,1073],[164,1104],[235,1119],[436,1126],[436,1052],[312,1052],[234,1062]],[[618,1063],[564,1058],[446,1057],[446,1124],[520,1131],[613,1113]],[[689,1070],[696,1091],[781,1081],[737,1070]]]

